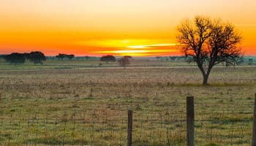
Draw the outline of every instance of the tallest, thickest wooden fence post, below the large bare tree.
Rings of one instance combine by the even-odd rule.
[[[194,97],[187,97],[187,146],[194,146],[195,128]]]

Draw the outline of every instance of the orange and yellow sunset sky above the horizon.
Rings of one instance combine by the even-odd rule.
[[[255,0],[0,0],[0,53],[177,55],[176,26],[222,18],[256,55]]]

